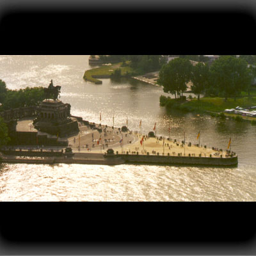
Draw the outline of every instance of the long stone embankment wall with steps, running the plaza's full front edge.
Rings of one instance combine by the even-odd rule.
[[[65,154],[61,152],[28,152],[28,151],[2,151],[4,154],[0,159],[4,163],[67,163],[67,164],[106,164],[116,165],[124,163],[140,163],[140,164],[181,164],[188,166],[236,166],[237,156],[220,158],[220,157],[179,157],[179,156],[143,156],[143,155],[125,155],[120,154],[118,157],[104,158],[103,154],[76,153],[73,158],[65,158]],[[13,156],[26,157],[49,157],[48,159],[29,159],[14,158]]]

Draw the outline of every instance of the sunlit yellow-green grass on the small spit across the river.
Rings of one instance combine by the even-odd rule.
[[[111,66],[102,66],[99,68],[86,70],[86,72],[84,72],[83,78],[87,79],[92,83],[97,83],[99,82],[99,80],[96,78],[93,78],[93,76],[102,76],[102,75],[110,76],[114,72],[114,70],[117,68],[121,69],[122,76],[124,76],[127,72],[133,72],[131,67],[121,67],[121,65],[122,65],[122,62],[113,63]]]

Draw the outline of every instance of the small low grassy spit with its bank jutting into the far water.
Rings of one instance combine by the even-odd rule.
[[[111,65],[104,65],[99,68],[92,68],[90,70],[86,70],[84,72],[83,79],[85,81],[90,81],[95,84],[102,84],[102,81],[100,81],[97,78],[108,78],[115,72],[116,69],[120,68],[121,70],[121,76],[125,76],[129,73],[134,72],[131,67],[121,67],[122,62],[120,63],[113,63]]]

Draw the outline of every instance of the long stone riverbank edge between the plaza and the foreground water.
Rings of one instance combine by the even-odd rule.
[[[164,164],[186,166],[237,166],[237,156],[231,157],[201,157],[201,156],[149,156],[139,154],[115,154],[104,157],[104,154],[79,153],[73,157],[21,157],[1,154],[0,163],[25,163],[25,164]]]

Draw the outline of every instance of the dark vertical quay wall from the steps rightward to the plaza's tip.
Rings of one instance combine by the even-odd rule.
[[[187,157],[187,156],[144,156],[120,154],[126,163],[145,164],[185,164],[185,165],[209,165],[209,166],[236,166],[237,156],[220,157]]]

